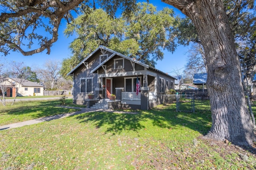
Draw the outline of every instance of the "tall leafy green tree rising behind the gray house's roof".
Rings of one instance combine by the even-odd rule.
[[[68,37],[74,33],[78,37],[70,44],[74,55],[63,61],[63,76],[99,45],[150,66],[163,59],[163,49],[173,52],[176,48],[171,34],[174,12],[170,8],[156,11],[152,4],[138,3],[129,16],[120,18],[112,18],[102,9],[90,10],[90,14],[68,24],[64,32]]]

